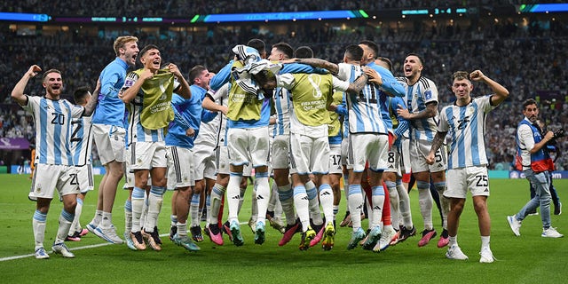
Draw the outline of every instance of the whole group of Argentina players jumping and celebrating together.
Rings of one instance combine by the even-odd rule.
[[[479,261],[493,262],[485,116],[509,91],[481,71],[455,72],[456,100],[438,111],[438,89],[422,76],[422,58],[408,54],[404,77],[394,77],[390,60],[379,57],[370,41],[347,46],[343,62],[335,64],[288,43],[272,45],[267,56],[264,42],[254,39],[234,46],[234,59],[217,75],[196,66],[187,79],[175,64],[163,64],[157,46],[138,50],[134,36],[118,37],[114,51],[116,59],[101,72],[92,97],[88,88],[78,89],[75,105],[59,99],[63,80],[56,69],[43,73],[44,97],[23,93],[42,71],[36,65],[12,91],[36,121],[37,165],[29,193],[37,202],[36,258],[49,258],[43,239],[55,189],[64,206],[52,250],[65,257],[75,255],[64,241],[80,241],[89,231],[133,250],[161,250],[157,224],[169,190],[171,241],[200,250],[196,242],[204,232],[217,245],[224,245],[226,234],[242,246],[248,240],[240,209],[253,174],[248,225],[256,244],[264,243],[271,225],[282,233],[279,246],[298,233],[302,250],[334,248],[343,178],[348,216],[338,225],[352,227],[347,249],[380,252],[417,233],[403,178],[412,172],[423,222],[418,246],[438,236],[432,221],[438,195],[438,248],[447,247],[447,258],[468,259],[457,233],[469,191],[479,219]],[[143,67],[127,73],[137,59]],[[472,98],[472,82],[487,84],[493,93]],[[83,229],[78,220],[94,184],[93,140],[106,174],[95,216]],[[119,237],[112,209],[123,176],[129,198]]]

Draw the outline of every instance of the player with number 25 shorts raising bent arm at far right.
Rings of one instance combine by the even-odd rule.
[[[487,211],[489,196],[489,177],[487,176],[487,154],[485,154],[486,115],[509,96],[509,91],[496,83],[481,71],[455,72],[452,91],[455,95],[453,105],[445,106],[440,112],[438,131],[432,141],[430,153],[426,157],[428,164],[436,162],[436,153],[443,146],[446,134],[451,139],[447,189],[445,197],[450,200],[450,212],[447,216],[449,248],[446,257],[450,259],[468,259],[461,252],[457,242],[458,225],[465,205],[468,190],[473,197],[473,207],[477,214],[479,233],[481,234],[480,263],[493,263],[494,257],[489,247],[491,219]],[[471,98],[471,81],[487,84],[493,94]]]

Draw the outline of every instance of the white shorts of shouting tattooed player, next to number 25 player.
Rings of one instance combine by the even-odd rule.
[[[434,164],[429,165],[426,162],[426,156],[430,153],[430,148],[432,142],[427,140],[415,140],[410,141],[410,167],[413,173],[430,171],[438,172],[446,170],[447,165],[447,154],[446,147],[442,146],[436,151],[436,158]]]

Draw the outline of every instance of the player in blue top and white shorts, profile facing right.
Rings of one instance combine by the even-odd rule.
[[[177,245],[188,250],[199,250],[193,243],[196,240],[196,233],[193,228],[199,230],[201,235],[201,227],[197,220],[197,225],[191,227],[193,241],[187,237],[187,217],[190,212],[190,201],[194,196],[199,196],[195,188],[194,169],[201,161],[193,160],[193,141],[199,135],[201,121],[210,122],[217,113],[202,111],[201,100],[205,96],[209,88],[209,71],[206,67],[197,65],[189,71],[189,80],[193,84],[190,86],[192,97],[183,99],[177,94],[173,94],[171,104],[177,113],[174,121],[170,123],[168,135],[166,136],[166,146],[168,146],[168,188],[177,190],[174,195],[176,216],[177,216],[177,233],[173,240]],[[193,188],[192,188],[193,187]],[[192,207],[193,207],[193,201]],[[197,202],[199,203],[199,201]],[[192,212],[197,215],[198,212]],[[193,221],[192,221],[193,223]]]

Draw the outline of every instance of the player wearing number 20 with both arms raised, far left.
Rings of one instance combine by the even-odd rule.
[[[53,252],[64,257],[75,257],[64,243],[75,217],[77,194],[80,193],[70,146],[73,134],[71,122],[74,118],[83,115],[90,116],[96,100],[91,100],[87,106],[73,106],[67,99],[59,99],[63,90],[63,79],[57,69],[43,73],[42,84],[45,96],[30,97],[24,94],[29,79],[40,71],[42,68],[37,65],[29,67],[12,90],[12,99],[25,110],[30,111],[36,121],[37,165],[29,193],[29,198],[36,200],[36,211],[32,219],[36,258],[50,257],[43,248],[43,240],[47,213],[55,189],[63,200],[63,210],[59,216],[59,228],[51,248]],[[99,89],[95,91],[95,95],[98,95],[98,92]]]

